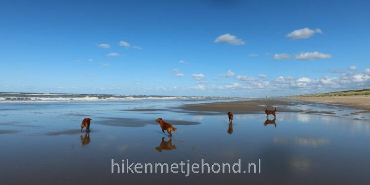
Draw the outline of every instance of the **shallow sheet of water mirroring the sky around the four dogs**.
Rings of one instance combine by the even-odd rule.
[[[320,105],[291,109],[334,111],[189,113],[192,102],[1,103],[1,184],[367,184],[368,114]],[[300,106],[300,107],[297,107]],[[303,108],[302,108],[303,107]],[[133,111],[137,108],[139,110]],[[337,112],[342,110],[343,113]],[[348,114],[349,118],[339,116]],[[352,116],[352,117],[351,117]],[[364,117],[364,119],[357,119]],[[81,121],[92,119],[89,133]],[[154,121],[178,130],[168,137]],[[260,173],[111,173],[111,159],[130,163],[259,163]]]

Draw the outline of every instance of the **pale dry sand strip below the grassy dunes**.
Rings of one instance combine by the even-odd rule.
[[[342,104],[343,107],[351,109],[360,109],[366,111],[359,111],[357,113],[370,113],[370,96],[324,96],[324,97],[305,97],[294,96],[288,97],[294,100]]]

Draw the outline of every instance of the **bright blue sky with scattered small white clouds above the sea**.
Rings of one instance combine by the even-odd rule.
[[[0,92],[369,88],[369,9],[369,0],[3,1]]]

